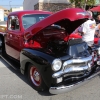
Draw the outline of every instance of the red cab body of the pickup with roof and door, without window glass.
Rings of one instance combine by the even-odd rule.
[[[7,34],[5,37],[5,39],[6,39],[6,44],[5,44],[6,53],[15,59],[18,59],[18,60],[19,60],[20,51],[23,48],[34,48],[34,47],[39,48],[39,47],[41,47],[39,45],[39,43],[37,43],[37,42],[34,42],[34,45],[33,45],[31,42],[28,43],[25,41],[25,36],[24,36],[25,29],[23,27],[22,17],[24,15],[30,15],[30,14],[52,14],[52,12],[33,10],[33,11],[17,11],[17,12],[12,12],[9,14],[8,22],[10,20],[10,16],[17,16],[18,17],[20,30],[10,30],[10,29],[8,29],[8,24],[7,24]],[[12,26],[11,26],[11,28],[12,28]],[[13,52],[13,54],[11,51]]]

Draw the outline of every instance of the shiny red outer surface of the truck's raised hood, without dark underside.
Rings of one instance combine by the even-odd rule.
[[[33,25],[30,28],[28,28],[27,30],[25,30],[25,32],[24,32],[25,37],[26,37],[26,39],[29,39],[36,33],[40,32],[42,29],[46,28],[47,26],[52,25],[55,22],[62,21],[64,19],[68,19],[70,21],[75,21],[75,20],[84,19],[84,18],[89,17],[89,15],[81,14],[82,12],[85,12],[85,11],[82,9],[79,9],[79,8],[72,8],[72,9],[65,9],[65,10],[59,11],[55,14],[52,14],[51,16],[47,17],[46,19],[40,21],[39,23],[36,23],[35,25]],[[29,33],[31,35],[29,37],[27,37],[27,33]]]

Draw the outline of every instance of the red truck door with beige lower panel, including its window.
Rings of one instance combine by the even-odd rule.
[[[23,33],[17,16],[10,16],[8,20],[8,29],[5,37],[6,53],[19,60],[20,51],[23,48]]]

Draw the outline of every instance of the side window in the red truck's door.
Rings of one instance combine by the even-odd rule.
[[[17,16],[10,16],[9,17],[8,30],[20,30],[19,19]]]

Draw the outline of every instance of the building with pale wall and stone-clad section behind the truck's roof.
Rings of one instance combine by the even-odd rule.
[[[46,10],[56,12],[70,7],[69,0],[24,0],[24,10]]]

